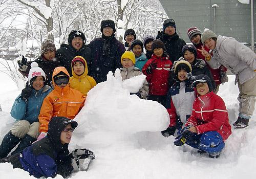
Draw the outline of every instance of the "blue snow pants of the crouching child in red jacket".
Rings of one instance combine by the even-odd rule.
[[[220,152],[225,146],[225,143],[217,131],[208,131],[198,135],[193,133],[187,138],[186,144],[208,153]]]

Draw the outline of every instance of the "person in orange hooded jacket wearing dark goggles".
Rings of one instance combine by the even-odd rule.
[[[71,88],[69,81],[69,73],[63,66],[54,69],[52,76],[54,89],[42,103],[38,116],[40,135],[37,140],[46,136],[48,124],[53,117],[64,116],[74,119],[84,105],[86,98],[81,92]]]

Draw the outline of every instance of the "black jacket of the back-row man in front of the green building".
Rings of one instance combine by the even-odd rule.
[[[182,56],[181,50],[186,42],[182,38],[179,38],[179,35],[176,32],[174,35],[162,33],[160,40],[164,43],[165,49],[173,63]]]

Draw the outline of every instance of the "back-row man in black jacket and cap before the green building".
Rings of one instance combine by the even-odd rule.
[[[156,39],[162,40],[166,52],[173,63],[181,57],[181,49],[185,46],[186,42],[182,38],[179,38],[179,35],[176,33],[174,19],[164,20],[163,31],[158,31]]]

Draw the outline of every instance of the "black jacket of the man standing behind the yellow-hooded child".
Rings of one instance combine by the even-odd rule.
[[[61,46],[57,50],[57,53],[60,56],[60,63],[62,66],[64,66],[67,71],[69,72],[69,75],[72,76],[72,69],[71,69],[71,62],[75,56],[82,56],[87,61],[88,69],[90,72],[90,63],[91,63],[91,49],[84,45],[81,49],[76,50],[73,48],[72,44]]]

